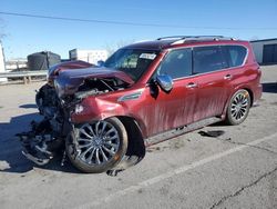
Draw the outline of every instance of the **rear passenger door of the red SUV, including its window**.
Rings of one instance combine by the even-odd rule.
[[[193,73],[197,83],[194,121],[220,116],[228,98],[232,71],[220,46],[193,49]]]

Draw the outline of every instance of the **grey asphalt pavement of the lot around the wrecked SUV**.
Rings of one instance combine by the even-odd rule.
[[[28,161],[14,135],[40,119],[34,90],[43,82],[0,86],[0,208],[277,208],[277,66],[261,70],[263,98],[244,123],[150,147],[116,177]]]

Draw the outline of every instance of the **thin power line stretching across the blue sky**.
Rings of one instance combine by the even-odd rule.
[[[126,22],[126,21],[110,21],[110,20],[96,20],[96,19],[81,19],[81,18],[66,18],[57,16],[40,16],[30,13],[18,13],[18,12],[6,12],[0,11],[0,14],[16,16],[24,18],[38,18],[38,19],[50,19],[50,20],[62,20],[62,21],[76,21],[76,22],[89,22],[89,23],[105,23],[105,24],[121,24],[121,26],[133,26],[133,27],[156,27],[156,28],[179,28],[179,29],[225,29],[225,30],[277,30],[277,28],[237,28],[237,27],[189,27],[181,24],[156,24],[156,23],[141,23],[141,22]]]

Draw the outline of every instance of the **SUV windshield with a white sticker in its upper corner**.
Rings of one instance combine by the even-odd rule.
[[[123,71],[137,81],[157,53],[154,50],[120,49],[105,61],[104,67]]]

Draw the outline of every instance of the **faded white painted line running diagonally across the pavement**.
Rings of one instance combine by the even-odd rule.
[[[223,152],[219,152],[219,153],[216,153],[214,156],[211,156],[211,157],[207,157],[207,158],[204,158],[199,161],[195,161],[191,165],[186,165],[186,166],[183,166],[183,167],[179,167],[179,168],[176,168],[174,170],[171,170],[166,173],[163,173],[163,175],[160,175],[160,176],[156,176],[154,178],[151,178],[151,179],[147,179],[145,181],[142,181],[137,185],[134,185],[134,186],[131,186],[131,187],[127,187],[126,189],[123,189],[123,190],[119,190],[107,197],[104,197],[98,201],[93,201],[93,202],[89,202],[86,205],[83,205],[83,206],[80,206],[79,208],[92,208],[94,206],[100,206],[101,203],[105,203],[105,202],[109,202],[109,201],[112,201],[113,199],[116,199],[116,198],[120,198],[120,197],[123,197],[130,192],[134,192],[134,191],[137,191],[142,188],[146,188],[148,186],[152,186],[154,183],[157,183],[160,181],[163,181],[165,179],[168,179],[173,176],[176,176],[176,175],[179,175],[179,173],[183,173],[183,172],[186,172],[188,170],[192,170],[192,169],[195,169],[199,166],[203,166],[203,165],[206,165],[208,162],[212,162],[212,161],[215,161],[217,159],[220,159],[225,156],[228,156],[230,153],[235,153],[237,151],[242,151],[244,150],[245,148],[249,148],[249,146],[256,146],[260,142],[264,142],[264,141],[267,141],[267,140],[270,140],[270,139],[274,139],[275,137],[277,137],[277,132],[274,133],[274,135],[270,135],[270,136],[267,136],[267,137],[264,137],[261,139],[257,139],[255,141],[252,141],[252,142],[248,142],[248,143],[245,143],[245,145],[242,145],[242,146],[237,146],[233,149],[228,149],[226,151],[223,151]]]

